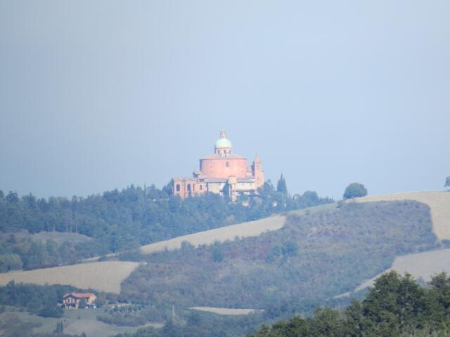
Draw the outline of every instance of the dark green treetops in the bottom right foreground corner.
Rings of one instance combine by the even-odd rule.
[[[366,298],[340,312],[319,308],[314,317],[295,316],[272,326],[262,326],[248,337],[401,337],[450,336],[448,303],[450,279],[432,278],[421,288],[410,275],[388,272],[375,281]],[[444,300],[444,302],[442,302]]]

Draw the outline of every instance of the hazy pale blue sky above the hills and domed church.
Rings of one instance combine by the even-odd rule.
[[[291,194],[442,190],[450,1],[0,1],[0,190],[191,176],[221,128]]]

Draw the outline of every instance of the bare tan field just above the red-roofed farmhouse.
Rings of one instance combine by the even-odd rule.
[[[136,262],[104,261],[7,272],[0,274],[0,284],[6,285],[10,281],[41,285],[70,284],[80,289],[120,293],[120,284],[138,266]]]

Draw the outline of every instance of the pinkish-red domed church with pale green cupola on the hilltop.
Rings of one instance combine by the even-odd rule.
[[[233,201],[240,194],[254,194],[264,185],[264,171],[256,155],[252,166],[247,159],[233,153],[224,130],[214,145],[214,154],[200,159],[200,170],[192,178],[173,178],[172,191],[181,198],[212,192],[229,196]]]

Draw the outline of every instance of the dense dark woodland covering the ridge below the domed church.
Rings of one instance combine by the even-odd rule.
[[[134,249],[179,235],[255,220],[293,209],[333,201],[305,192],[290,198],[287,190],[277,191],[267,182],[249,206],[231,202],[217,194],[185,200],[169,194],[169,187],[155,186],[113,190],[86,198],[51,197],[38,199],[29,194],[18,197],[0,191],[0,272],[31,270],[75,263],[82,258]],[[39,232],[84,234],[90,241],[44,242]]]

